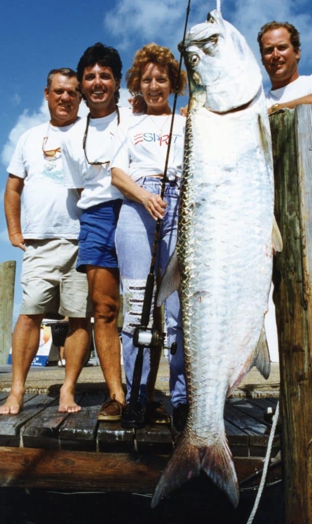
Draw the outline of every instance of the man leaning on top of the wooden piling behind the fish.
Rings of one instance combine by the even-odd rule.
[[[275,20],[261,27],[258,42],[262,63],[272,87],[266,93],[269,114],[299,104],[312,104],[312,75],[300,76],[299,32],[288,22]]]

